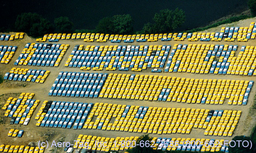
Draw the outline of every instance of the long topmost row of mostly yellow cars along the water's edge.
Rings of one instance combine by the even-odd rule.
[[[84,42],[106,42],[110,40],[113,43],[119,43],[122,40],[126,43],[136,42],[155,42],[161,41],[183,41],[188,39],[188,41],[247,41],[248,39],[254,39],[256,36],[256,24],[252,22],[250,27],[222,27],[220,33],[160,33],[160,34],[137,34],[137,35],[109,35],[103,33],[54,33],[45,34],[43,38],[37,39],[37,41],[45,42],[46,40],[69,40],[71,39],[83,39]]]

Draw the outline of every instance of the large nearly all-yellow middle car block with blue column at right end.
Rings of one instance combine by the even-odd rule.
[[[113,76],[113,77],[112,77]],[[110,73],[99,98],[246,105],[253,81]]]

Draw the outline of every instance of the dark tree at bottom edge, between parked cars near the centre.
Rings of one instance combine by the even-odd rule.
[[[129,153],[155,153],[156,151],[150,147],[152,138],[148,135],[143,135],[138,138],[136,146],[132,149],[128,149]],[[141,143],[141,144],[140,144]],[[139,145],[137,145],[139,144]]]

